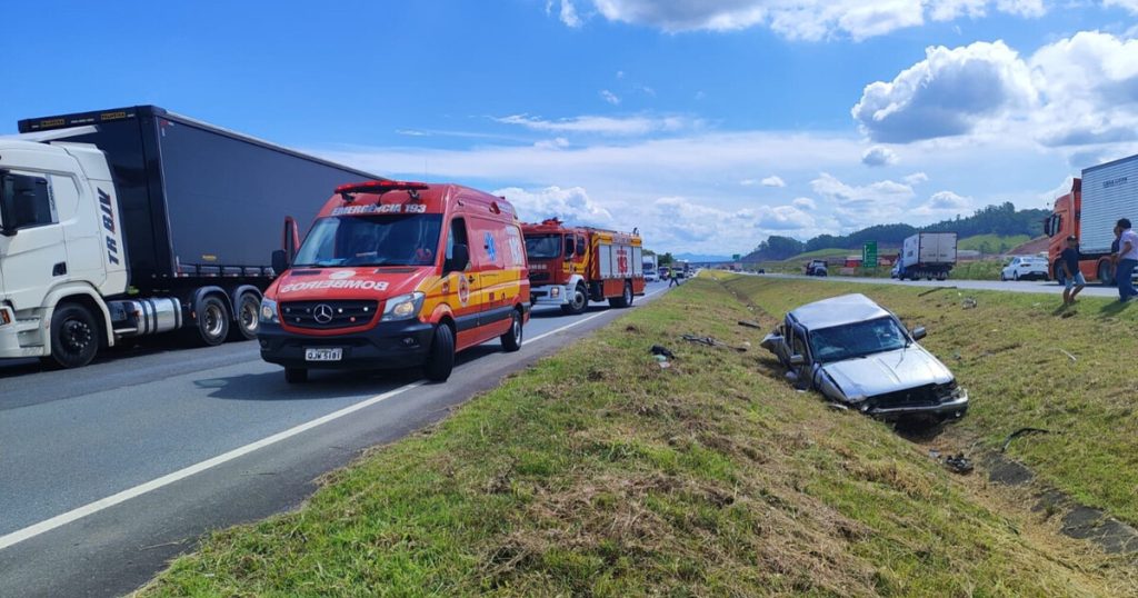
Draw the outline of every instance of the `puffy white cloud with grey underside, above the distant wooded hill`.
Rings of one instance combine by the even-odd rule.
[[[908,142],[971,132],[1036,103],[1031,73],[1003,41],[934,47],[893,81],[866,85],[853,117],[879,141]]]

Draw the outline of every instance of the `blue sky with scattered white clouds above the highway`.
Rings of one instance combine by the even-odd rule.
[[[6,21],[0,133],[156,104],[660,251],[1042,207],[1138,153],[1138,0],[40,1]]]

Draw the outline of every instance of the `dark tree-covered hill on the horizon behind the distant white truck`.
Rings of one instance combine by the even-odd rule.
[[[1017,211],[1011,202],[1005,202],[1001,205],[981,207],[968,218],[943,220],[920,228],[909,224],[874,224],[849,235],[819,235],[805,243],[792,237],[772,235],[742,261],[785,260],[817,249],[860,251],[861,246],[871,240],[877,241],[879,246],[898,247],[906,237],[916,232],[956,232],[959,238],[976,235],[1026,235],[1036,238],[1042,235],[1044,219],[1049,214],[1047,210]]]

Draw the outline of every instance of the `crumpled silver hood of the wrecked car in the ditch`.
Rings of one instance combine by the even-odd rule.
[[[850,400],[953,380],[953,372],[916,343],[907,349],[826,363],[822,370]]]

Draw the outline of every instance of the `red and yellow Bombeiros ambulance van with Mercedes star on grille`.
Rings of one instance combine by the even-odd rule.
[[[286,238],[295,237],[286,223]],[[529,279],[521,229],[501,197],[456,185],[345,185],[265,290],[261,357],[290,383],[310,369],[422,366],[445,380],[454,354],[521,346]]]

